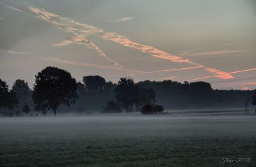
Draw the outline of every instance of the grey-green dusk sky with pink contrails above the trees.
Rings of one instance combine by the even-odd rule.
[[[47,66],[256,88],[255,0],[0,0],[0,78],[33,87]]]

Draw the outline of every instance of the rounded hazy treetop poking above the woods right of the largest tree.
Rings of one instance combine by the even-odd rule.
[[[86,90],[89,92],[102,91],[104,89],[104,86],[106,85],[106,80],[99,75],[84,76],[83,82]]]

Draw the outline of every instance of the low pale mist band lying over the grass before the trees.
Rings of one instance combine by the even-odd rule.
[[[145,136],[255,135],[255,115],[242,112],[141,115],[140,113],[86,116],[1,118],[1,140],[79,140],[81,138],[138,138]],[[7,136],[4,134],[8,134]]]

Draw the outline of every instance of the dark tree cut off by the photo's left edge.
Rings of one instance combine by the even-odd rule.
[[[13,91],[9,91],[6,82],[0,79],[0,108],[4,107],[13,109],[18,104],[19,101],[16,98],[16,93]]]

